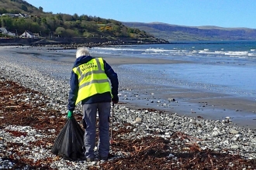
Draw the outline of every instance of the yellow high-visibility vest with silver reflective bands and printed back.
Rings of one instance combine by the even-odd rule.
[[[91,59],[88,63],[74,67],[73,71],[78,75],[78,98],[75,104],[91,97],[96,93],[111,92],[108,76],[104,70],[102,58]]]

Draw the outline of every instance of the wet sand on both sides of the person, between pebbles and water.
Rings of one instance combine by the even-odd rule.
[[[58,50],[49,50],[47,47],[9,47],[8,49],[1,47],[1,51],[12,56],[31,57],[42,61],[41,64],[50,63],[58,66],[66,66],[63,68],[69,77],[70,68],[75,60],[74,53],[65,53]],[[92,55],[93,56],[93,55]],[[156,110],[164,110],[170,114],[186,115],[189,117],[220,120],[230,117],[231,121],[242,128],[256,129],[256,103],[254,100],[248,100],[242,97],[236,97],[223,93],[211,93],[200,90],[190,90],[178,87],[155,87],[154,85],[145,86],[140,83],[130,82],[132,79],[123,76],[123,70],[119,68],[123,64],[175,64],[188,63],[181,60],[170,59],[143,59],[134,57],[119,56],[102,56],[112,65],[114,70],[119,74],[119,104],[126,105],[137,109],[154,108]],[[31,64],[31,63],[30,63]],[[33,63],[32,63],[33,64]],[[48,68],[47,71],[51,68]],[[137,76],[140,73],[130,73],[125,75]],[[175,101],[168,99],[174,98]]]

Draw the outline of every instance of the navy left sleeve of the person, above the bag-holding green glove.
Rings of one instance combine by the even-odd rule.
[[[67,109],[73,112],[75,107],[75,101],[78,98],[78,75],[76,75],[73,71],[71,72],[70,87],[71,90],[69,91]]]

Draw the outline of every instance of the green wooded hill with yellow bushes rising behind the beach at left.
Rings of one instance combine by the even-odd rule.
[[[114,19],[88,15],[53,14],[43,12],[22,0],[0,0],[0,27],[18,35],[26,30],[41,38],[98,38],[107,40],[131,39],[137,42],[166,42],[140,29],[124,26]],[[12,16],[22,14],[22,16]]]

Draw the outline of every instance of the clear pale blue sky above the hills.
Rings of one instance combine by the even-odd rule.
[[[256,29],[256,0],[25,0],[54,14],[91,15],[120,22]]]

